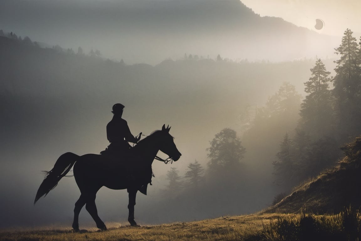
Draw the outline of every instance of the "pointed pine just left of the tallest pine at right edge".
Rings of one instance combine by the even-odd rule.
[[[329,90],[330,72],[321,59],[317,59],[311,71],[309,81],[305,82],[308,93],[301,104],[300,116],[303,127],[313,135],[327,135],[332,129],[332,98]]]

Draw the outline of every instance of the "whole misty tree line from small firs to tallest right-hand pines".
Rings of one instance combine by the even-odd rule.
[[[266,147],[262,150],[260,143],[272,141],[278,136],[282,138],[278,148],[269,151],[275,159],[269,157],[269,160],[263,161],[271,162],[278,192],[287,193],[334,165],[342,156],[339,147],[361,134],[361,37],[357,43],[352,34],[347,29],[342,43],[335,48],[339,56],[334,61],[335,76],[330,76],[323,61],[316,58],[310,77],[304,82],[304,99],[295,86],[284,82],[265,106],[257,107],[254,113],[247,106],[242,113],[245,115],[243,119],[247,120],[243,140],[252,145],[248,139],[253,139],[253,145],[258,145],[258,152],[268,151]],[[285,130],[283,134],[282,130]],[[221,130],[210,141],[207,151],[209,161],[206,169],[197,162],[188,165],[184,178],[196,181],[188,179],[188,182],[182,182],[177,169],[171,168],[167,175],[168,189],[179,191],[185,187],[199,187],[200,183],[202,188],[223,184],[230,187],[242,181],[241,176],[247,169],[242,163],[246,151],[235,130]],[[256,159],[257,155],[252,158]],[[242,184],[236,185],[239,188]]]

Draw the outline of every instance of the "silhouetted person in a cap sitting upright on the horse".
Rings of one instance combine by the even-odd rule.
[[[110,142],[108,151],[116,156],[126,153],[131,148],[128,142],[137,143],[140,139],[140,135],[138,139],[132,135],[127,121],[122,119],[124,107],[119,103],[114,104],[113,119],[106,125],[106,137]]]

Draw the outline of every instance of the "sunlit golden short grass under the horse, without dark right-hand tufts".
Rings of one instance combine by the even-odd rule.
[[[163,224],[157,226],[110,228],[108,231],[87,231],[76,233],[69,229],[7,231],[0,233],[0,241],[170,241],[170,240],[244,240],[262,232],[263,225],[276,220],[282,214],[254,214],[225,216],[187,223]]]

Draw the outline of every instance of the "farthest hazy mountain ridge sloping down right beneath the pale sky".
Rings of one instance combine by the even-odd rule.
[[[4,0],[4,6],[4,29],[32,31],[34,39],[53,45],[98,48],[128,63],[156,64],[185,52],[271,61],[322,58],[340,42],[282,18],[260,17],[236,0],[26,1],[19,14],[27,22],[12,21],[9,13],[18,5]]]

